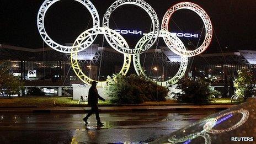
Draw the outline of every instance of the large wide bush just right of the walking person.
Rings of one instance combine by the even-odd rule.
[[[114,74],[108,77],[108,86],[104,92],[111,103],[139,104],[143,102],[166,101],[168,90],[145,78],[131,74],[122,76]]]

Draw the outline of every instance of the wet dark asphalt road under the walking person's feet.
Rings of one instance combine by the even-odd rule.
[[[133,112],[95,115],[86,126],[84,114],[0,114],[0,143],[150,142],[217,111]]]

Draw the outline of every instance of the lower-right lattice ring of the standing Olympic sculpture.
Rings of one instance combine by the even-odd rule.
[[[152,32],[151,32],[152,33]],[[150,33],[149,33],[150,34]],[[182,49],[182,50],[186,50],[186,47],[184,46],[184,44],[182,43],[182,41],[174,34],[171,34],[169,31],[160,31],[160,34],[158,35],[159,38],[166,38],[168,40],[167,46],[169,47],[169,49],[173,49],[173,47],[177,47],[177,49]],[[148,41],[149,37],[147,35],[143,36],[143,38],[141,38],[137,45],[135,47],[139,47],[139,45],[141,43],[144,43],[145,41]],[[146,76],[145,71],[143,70],[141,63],[140,63],[140,55],[134,55],[133,56],[133,61],[134,61],[134,68],[136,73],[138,74],[138,76],[145,76],[146,78],[148,78]],[[159,86],[170,86],[172,84],[175,84],[179,81],[180,78],[182,78],[186,72],[186,67],[188,66],[188,57],[185,56],[181,56],[181,61],[180,61],[180,68],[177,72],[177,74],[175,74],[175,76],[167,81],[164,82],[159,82],[157,81],[157,84]],[[148,78],[150,79],[150,78]]]

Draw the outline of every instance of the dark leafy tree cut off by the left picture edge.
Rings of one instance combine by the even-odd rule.
[[[0,93],[5,93],[9,96],[18,94],[19,89],[23,87],[24,83],[19,81],[18,77],[10,74],[4,63],[6,62],[0,61]]]

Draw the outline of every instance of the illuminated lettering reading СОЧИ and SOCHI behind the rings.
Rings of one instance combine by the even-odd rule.
[[[115,31],[119,34],[131,34],[131,35],[146,35],[147,33],[143,33],[142,30],[126,30],[126,29],[115,29]],[[174,33],[172,34],[180,37],[180,38],[199,38],[199,34],[193,33]]]

